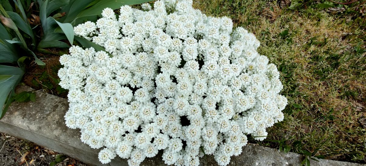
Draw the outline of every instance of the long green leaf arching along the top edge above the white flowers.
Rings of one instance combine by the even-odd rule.
[[[101,0],[98,1],[98,3],[96,3],[95,5],[92,5],[81,11],[72,22],[74,22],[76,19],[82,19],[83,17],[100,15],[102,13],[102,10],[107,7],[115,10],[123,5],[141,4],[148,1],[151,0]]]

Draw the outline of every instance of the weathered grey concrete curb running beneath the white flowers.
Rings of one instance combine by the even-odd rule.
[[[29,91],[29,87],[18,87],[17,91]],[[67,99],[38,91],[36,102],[12,103],[5,117],[0,120],[0,132],[29,140],[48,147],[79,161],[94,166],[127,166],[127,160],[116,158],[109,164],[98,161],[98,151],[82,143],[79,130],[69,129],[64,124],[64,114],[68,109]],[[232,157],[232,166],[299,166],[303,156],[276,149],[247,145],[240,156]],[[202,166],[217,166],[213,156],[200,159]],[[310,161],[311,166],[362,166],[361,164],[319,159]],[[147,158],[142,166],[166,166],[161,153]]]

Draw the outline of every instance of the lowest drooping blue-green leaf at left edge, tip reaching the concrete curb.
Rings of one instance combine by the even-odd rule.
[[[18,67],[0,65],[0,108],[2,109],[0,119],[4,117],[11,102],[11,94],[23,75],[24,71]],[[7,105],[3,109],[5,101]]]

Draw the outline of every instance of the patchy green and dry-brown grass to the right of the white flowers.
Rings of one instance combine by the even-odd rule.
[[[340,13],[317,8],[316,1],[290,10],[277,1],[194,0],[203,13],[229,16],[235,27],[254,33],[258,52],[281,72],[284,121],[257,143],[366,162],[366,21],[357,5],[365,8],[355,3]]]

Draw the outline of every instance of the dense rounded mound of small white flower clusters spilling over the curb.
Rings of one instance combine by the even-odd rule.
[[[197,166],[213,154],[227,165],[266,128],[283,120],[287,99],[279,72],[256,49],[259,41],[232,20],[192,8],[191,0],[158,0],[154,10],[106,8],[75,34],[105,48],[72,46],[60,57],[60,85],[69,91],[69,128],[82,142],[128,165],[164,150],[168,165]],[[168,14],[168,12],[169,14]]]

